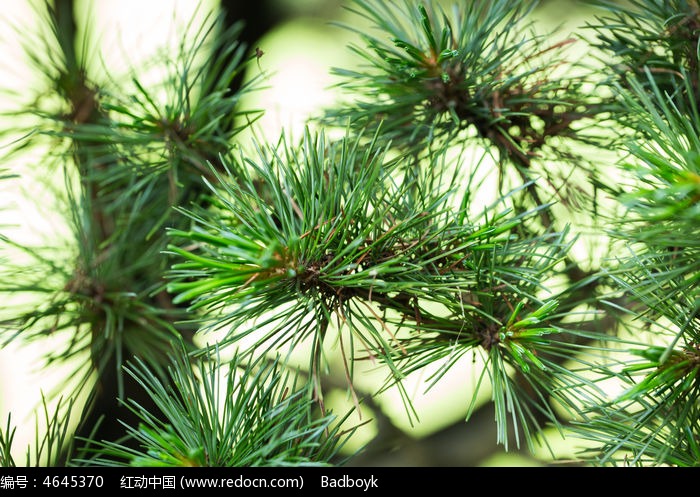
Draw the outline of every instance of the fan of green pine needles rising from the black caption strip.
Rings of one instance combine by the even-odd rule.
[[[154,418],[133,403],[142,422],[128,429],[141,449],[95,442],[84,449],[88,466],[307,466],[337,463],[354,430],[342,433],[334,415],[314,417],[315,403],[291,372],[270,361],[250,367],[238,357],[224,361],[173,357],[166,387],[148,365],[129,366],[165,413]],[[341,420],[342,421],[342,420]]]

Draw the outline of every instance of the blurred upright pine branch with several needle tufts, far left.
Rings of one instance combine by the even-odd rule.
[[[207,161],[226,152],[242,129],[233,120],[244,118],[249,125],[259,115],[239,106],[256,78],[236,93],[229,91],[254,56],[244,58],[245,47],[236,38],[240,25],[221,31],[220,18],[211,14],[201,26],[187,28],[183,40],[190,39],[178,52],[158,54],[157,64],[166,72],[165,101],[159,101],[159,89],[146,90],[138,74],[128,78],[131,86],[114,74],[111,81],[92,80],[96,71],[86,62],[91,54],[74,50],[78,28],[72,2],[39,9],[52,29],[41,44],[26,49],[46,76],[49,92],[64,100],[46,110],[35,102],[23,111],[40,122],[27,141],[54,143],[47,162],[58,163],[65,177],[60,198],[75,238],[65,255],[55,247],[47,254],[17,247],[34,265],[8,267],[14,276],[3,292],[45,297],[29,310],[4,311],[3,325],[9,340],[67,337],[65,349],[47,361],[82,361],[76,374],[83,381],[71,394],[87,395],[77,433],[85,437],[99,426],[100,436],[115,440],[123,435],[119,417],[130,415],[120,399],[143,405],[150,400],[123,374],[123,364],[138,357],[162,375],[173,340],[192,342],[194,328],[180,324],[186,310],[163,289],[162,227],[178,225],[173,205],[201,201]],[[210,53],[216,57],[206,59]],[[26,278],[11,283],[22,273]]]

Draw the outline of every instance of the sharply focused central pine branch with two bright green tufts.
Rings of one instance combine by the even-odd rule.
[[[473,217],[469,197],[453,198],[463,194],[456,181],[416,198],[415,184],[397,184],[401,159],[387,160],[374,140],[327,142],[307,133],[298,148],[283,143],[260,156],[216,182],[212,209],[186,211],[193,230],[170,230],[192,250],[170,247],[184,260],[173,265],[168,289],[226,330],[219,345],[262,330],[250,352],[278,353],[310,337],[319,396],[328,340],[345,343],[348,371],[358,359],[386,363],[390,385],[481,349],[504,431],[506,411],[515,425],[537,427],[532,409],[556,422],[547,394],[520,403],[508,368],[535,390],[550,368],[570,374],[565,383],[586,383],[547,359],[577,349],[551,340],[565,330],[550,323],[556,302],[539,296],[570,247],[566,233],[529,235],[522,225],[537,212],[507,205]]]

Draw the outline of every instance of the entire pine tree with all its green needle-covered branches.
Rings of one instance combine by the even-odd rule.
[[[0,181],[45,179],[66,229],[0,232],[0,343],[60,337],[46,371],[74,371],[0,465],[353,464],[396,443],[377,398],[420,424],[408,379],[468,367],[453,402],[505,451],[557,463],[554,430],[575,464],[697,466],[700,6],[586,5],[571,34],[530,0],[347,0],[339,101],[269,140],[231,12],[116,74],[39,3],[4,136],[43,155]]]

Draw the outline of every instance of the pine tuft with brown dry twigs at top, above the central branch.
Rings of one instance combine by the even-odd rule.
[[[587,130],[609,102],[589,91],[596,87],[590,70],[567,60],[576,39],[536,33],[530,20],[536,6],[473,2],[446,11],[433,1],[350,2],[348,9],[378,34],[341,25],[364,42],[351,49],[365,65],[333,70],[350,100],[322,122],[381,125],[383,140],[409,149],[482,143],[502,189],[527,185],[528,208],[554,200],[573,207],[580,183],[596,176],[573,144],[600,144]],[[554,177],[549,160],[575,169]],[[578,186],[571,175],[581,179]],[[551,228],[549,211],[540,215]]]

